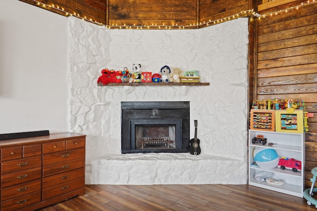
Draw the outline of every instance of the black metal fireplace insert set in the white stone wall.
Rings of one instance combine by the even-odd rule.
[[[121,102],[121,153],[189,152],[189,102]]]

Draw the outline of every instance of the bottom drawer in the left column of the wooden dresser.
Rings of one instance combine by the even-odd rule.
[[[41,201],[41,191],[1,202],[1,211],[18,211]]]

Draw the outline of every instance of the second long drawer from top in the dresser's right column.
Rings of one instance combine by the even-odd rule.
[[[85,157],[43,167],[43,177],[85,167]]]

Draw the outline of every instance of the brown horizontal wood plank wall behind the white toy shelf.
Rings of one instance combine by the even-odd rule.
[[[293,1],[259,11],[267,14],[301,4]],[[317,3],[258,20],[255,99],[303,99],[308,119],[306,181],[317,167]]]

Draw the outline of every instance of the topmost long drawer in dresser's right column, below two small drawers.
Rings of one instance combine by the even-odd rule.
[[[85,157],[85,149],[68,150],[53,154],[43,155],[43,166],[62,163],[73,159]]]

